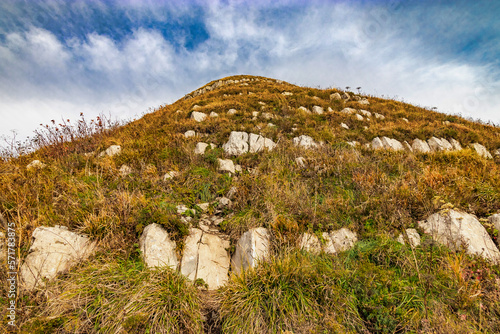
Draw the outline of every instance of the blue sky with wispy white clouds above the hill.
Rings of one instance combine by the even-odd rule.
[[[0,135],[138,118],[237,74],[498,125],[498,17],[490,0],[2,0]]]

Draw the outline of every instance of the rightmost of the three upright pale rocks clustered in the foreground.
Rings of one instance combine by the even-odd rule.
[[[254,268],[259,261],[269,256],[270,233],[266,228],[258,227],[245,232],[238,243],[231,260],[232,270],[239,274],[248,268]]]

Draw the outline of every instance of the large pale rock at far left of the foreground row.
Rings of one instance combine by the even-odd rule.
[[[87,236],[70,232],[65,227],[37,227],[33,239],[20,272],[28,290],[43,285],[43,278],[50,280],[69,270],[95,250],[95,243]]]

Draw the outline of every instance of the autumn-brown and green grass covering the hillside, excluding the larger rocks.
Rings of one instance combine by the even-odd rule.
[[[85,132],[88,126],[67,125],[63,138],[58,135],[63,130],[46,128],[39,137],[42,148],[0,163],[0,211],[16,224],[20,258],[38,226],[67,226],[99,247],[40,291],[20,292],[20,332],[500,332],[498,265],[452,252],[425,236],[415,249],[395,241],[403,229],[416,228],[443,207],[479,218],[499,212],[500,159],[484,159],[467,148],[478,142],[493,153],[500,148],[499,128],[370,96],[369,105],[330,100],[332,93],[343,93],[336,89],[263,77],[222,80],[228,79],[249,80],[195,97],[190,93],[123,126],[101,124]],[[219,116],[195,122],[189,117],[195,105]],[[301,106],[321,106],[325,113],[309,114],[299,111]],[[385,119],[360,121],[340,112],[346,107]],[[237,113],[229,115],[229,109]],[[185,138],[188,130],[199,135]],[[278,146],[233,158],[243,171],[231,177],[217,165],[231,131],[262,134]],[[299,135],[324,145],[294,146],[292,138]],[[401,142],[454,138],[464,150],[423,154],[364,146],[381,136]],[[360,145],[347,144],[352,141]],[[197,142],[217,148],[195,155]],[[99,157],[110,145],[120,145],[122,153]],[[305,167],[297,165],[297,157],[306,159]],[[34,159],[46,167],[26,169]],[[120,175],[124,164],[131,174]],[[169,171],[179,175],[164,180]],[[269,261],[232,276],[216,292],[195,287],[170,269],[144,267],[137,243],[145,226],[164,226],[180,250],[189,225],[176,206],[196,209],[232,187],[237,192],[220,231],[234,245],[252,227],[269,228],[274,240]],[[193,218],[196,226],[199,214]],[[496,240],[498,231],[482,222]],[[358,235],[352,250],[331,256],[296,249],[303,232],[320,235],[341,227]],[[0,276],[5,282],[5,273]],[[0,304],[7,303],[6,291],[2,285]],[[0,329],[6,328],[1,326],[5,322]]]

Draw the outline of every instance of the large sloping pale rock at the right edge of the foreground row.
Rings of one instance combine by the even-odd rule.
[[[500,262],[500,251],[473,215],[455,210],[442,211],[418,225],[436,242],[450,249],[458,250],[463,245],[469,254],[479,255],[495,263]]]

